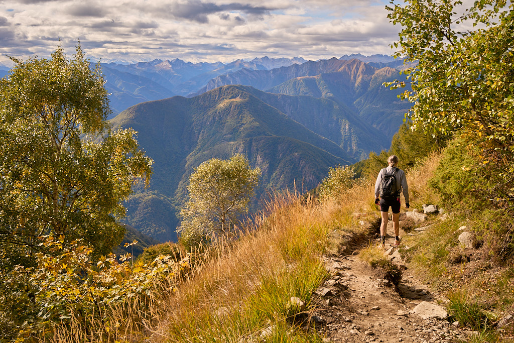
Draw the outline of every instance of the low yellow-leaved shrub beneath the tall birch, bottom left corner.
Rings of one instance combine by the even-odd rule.
[[[132,261],[130,254],[119,263],[114,254],[91,259],[93,249],[80,241],[67,242],[64,237],[47,236],[40,243],[45,252],[36,254],[34,267],[16,266],[2,280],[10,290],[0,294],[6,313],[22,314],[10,318],[11,330],[4,338],[45,337],[56,324],[87,326],[101,321],[109,327],[113,306],[173,290],[173,282],[188,270],[188,259],[157,256],[143,263]],[[164,288],[163,288],[164,287]],[[143,310],[143,308],[140,308]],[[108,330],[107,330],[108,332]],[[6,337],[7,336],[7,337]]]

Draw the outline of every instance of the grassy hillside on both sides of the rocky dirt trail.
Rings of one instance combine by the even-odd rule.
[[[432,153],[408,170],[411,208],[439,202],[428,184],[441,156]],[[275,194],[260,215],[240,228],[237,238],[217,237],[212,246],[190,254],[176,245],[161,247],[176,252],[168,258],[182,259],[182,271],[160,278],[143,295],[125,294],[123,301],[104,306],[103,313],[92,311],[88,318],[72,312],[69,320],[55,322],[25,341],[321,342],[323,331],[291,318],[316,311],[311,299],[330,277],[322,257],[355,255],[371,247],[387,259],[373,243],[379,218],[373,187],[374,180],[360,180],[323,200],[293,191]],[[450,299],[449,308],[461,306],[450,311],[453,317],[448,320],[460,316],[462,324],[472,325],[477,313],[479,318],[490,317],[487,325],[474,329],[488,339],[500,339],[491,334],[491,324],[514,299],[509,291],[511,269],[494,262],[492,255],[488,261],[494,273],[466,273],[466,263],[451,262],[448,256],[455,254],[451,251],[458,243],[449,236],[454,235],[454,226],[471,220],[452,216],[423,236],[404,237],[400,252],[434,292]],[[469,252],[484,257],[487,249]],[[479,285],[486,276],[490,288],[484,297]],[[306,308],[292,306],[291,297],[301,299]],[[261,334],[269,327],[271,336],[263,339]]]

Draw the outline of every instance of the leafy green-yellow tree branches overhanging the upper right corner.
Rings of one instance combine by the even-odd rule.
[[[408,72],[413,129],[462,132],[484,160],[512,180],[514,167],[514,4],[480,0],[471,8],[452,0],[407,0],[389,18],[403,26],[397,56],[417,62]],[[456,14],[460,13],[460,14]],[[390,84],[393,87],[399,84]],[[500,156],[491,156],[499,154]]]

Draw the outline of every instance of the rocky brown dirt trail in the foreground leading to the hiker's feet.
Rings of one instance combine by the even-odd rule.
[[[388,228],[392,233],[393,228]],[[400,236],[406,232],[400,231]],[[375,243],[376,241],[370,240]],[[388,235],[386,249],[394,263],[405,269],[404,262]],[[331,272],[313,299],[313,319],[327,342],[454,342],[464,338],[448,320],[422,319],[411,313],[420,302],[437,304],[437,294],[403,270],[402,280],[395,287],[377,277],[376,269],[352,255],[325,257]]]

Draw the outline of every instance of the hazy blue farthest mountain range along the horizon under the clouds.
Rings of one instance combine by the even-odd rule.
[[[343,56],[341,60],[353,58],[365,59],[376,67],[401,65],[402,60],[394,60],[390,56],[362,55]],[[143,101],[159,100],[174,95],[191,97],[198,95],[211,80],[228,75],[239,70],[272,70],[291,65],[301,65],[306,62],[303,58],[268,57],[255,58],[251,61],[236,60],[230,63],[192,63],[179,59],[153,60],[134,64],[105,63],[102,70],[105,76],[105,87],[111,94],[111,109],[113,118],[128,107]],[[313,61],[310,61],[313,62]],[[259,87],[257,87],[259,88]],[[212,87],[210,87],[212,89]],[[263,88],[259,88],[264,90]]]

